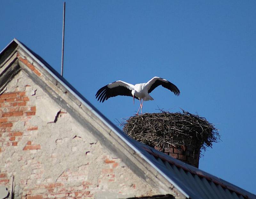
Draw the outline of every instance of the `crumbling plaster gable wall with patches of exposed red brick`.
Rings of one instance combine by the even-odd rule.
[[[159,193],[22,70],[0,100],[0,185],[10,192],[14,184],[15,198],[124,198]]]

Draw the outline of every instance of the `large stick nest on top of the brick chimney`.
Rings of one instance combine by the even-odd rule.
[[[204,117],[183,110],[182,113],[145,113],[122,123],[131,138],[150,147],[191,146],[195,151],[206,150],[220,140],[218,130]]]

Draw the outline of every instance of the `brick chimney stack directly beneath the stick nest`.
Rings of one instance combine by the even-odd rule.
[[[184,163],[190,164],[198,168],[199,166],[199,151],[194,151],[193,147],[190,146],[180,146],[173,147],[166,144],[165,147],[155,147],[156,150],[164,152],[166,155],[178,159]]]

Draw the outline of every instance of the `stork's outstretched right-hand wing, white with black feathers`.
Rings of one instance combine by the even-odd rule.
[[[175,86],[168,80],[160,78],[160,77],[153,77],[151,80],[149,80],[146,83],[146,86],[148,87],[148,93],[152,92],[159,85],[163,86],[164,88],[169,89],[177,96],[180,95],[180,90],[177,88],[177,86]]]

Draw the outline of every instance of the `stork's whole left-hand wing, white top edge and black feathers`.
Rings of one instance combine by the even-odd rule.
[[[99,91],[97,91],[95,96],[96,99],[98,98],[98,101],[100,100],[100,102],[104,102],[105,100],[108,100],[108,98],[116,97],[117,95],[125,95],[132,97],[133,89],[134,85],[119,80],[110,83],[106,86],[103,86],[99,89]],[[136,96],[135,98],[138,99]]]

